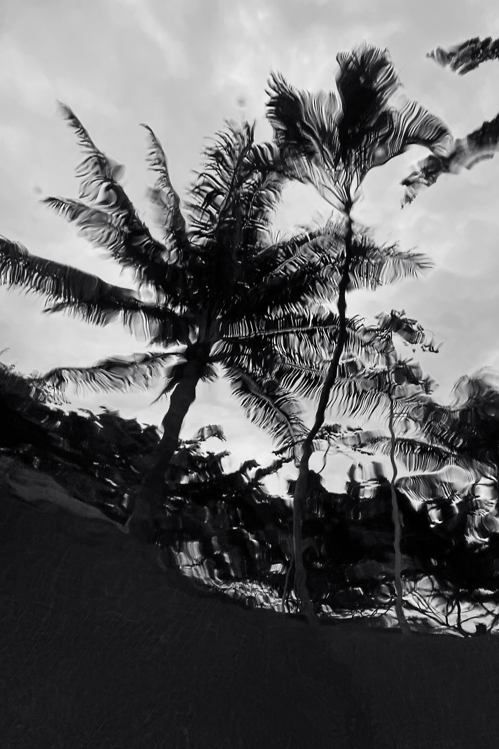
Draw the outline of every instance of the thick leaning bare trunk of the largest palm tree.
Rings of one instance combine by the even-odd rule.
[[[156,509],[162,500],[165,471],[179,444],[180,429],[186,414],[196,397],[196,386],[200,379],[200,364],[189,361],[182,380],[171,394],[170,407],[162,420],[163,436],[153,455],[153,465],[144,476],[135,496],[132,515],[128,521],[130,533],[143,541],[153,538]]]

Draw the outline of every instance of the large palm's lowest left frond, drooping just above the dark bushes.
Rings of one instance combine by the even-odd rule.
[[[91,367],[57,367],[46,372],[40,381],[56,393],[64,392],[70,385],[75,386],[76,393],[147,389],[160,380],[170,380],[174,369],[182,363],[182,350],[173,349],[161,354],[110,357]]]

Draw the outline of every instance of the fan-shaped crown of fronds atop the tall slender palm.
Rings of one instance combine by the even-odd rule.
[[[340,52],[337,61],[339,99],[295,91],[273,75],[267,107],[283,169],[341,208],[350,186],[373,166],[409,145],[444,153],[451,138],[435,115],[399,95],[401,83],[386,50],[364,43]]]

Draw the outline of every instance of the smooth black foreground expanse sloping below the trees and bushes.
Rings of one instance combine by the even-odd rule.
[[[6,492],[0,509],[2,747],[498,746],[494,637],[313,632],[108,524]]]

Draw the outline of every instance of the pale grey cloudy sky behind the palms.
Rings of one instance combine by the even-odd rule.
[[[257,120],[257,137],[272,135],[265,121],[271,70],[298,88],[331,90],[337,52],[362,40],[390,49],[405,92],[455,136],[499,109],[497,62],[459,77],[425,56],[471,36],[498,37],[495,0],[3,0],[0,29],[0,234],[120,285],[130,279],[40,204],[46,195],[77,197],[81,154],[56,100],[72,107],[102,151],[126,164],[126,189],[146,219],[151,177],[139,123],[153,127],[171,179],[186,195],[206,138],[224,120]],[[460,375],[499,369],[499,157],[439,179],[401,210],[399,182],[424,155],[413,148],[373,170],[355,216],[380,240],[426,252],[435,270],[376,294],[352,294],[349,312],[372,318],[403,308],[431,330],[444,345],[420,361],[446,401]],[[317,213],[326,216],[326,204],[312,188],[293,185],[276,226],[291,228]],[[42,310],[42,299],[0,287],[2,360],[23,372],[145,350],[119,324],[95,328]],[[223,382],[198,394],[185,434],[222,423],[236,455],[265,459],[271,443],[248,425]],[[150,407],[150,400],[133,393],[77,404],[107,404],[158,423],[165,404]]]

